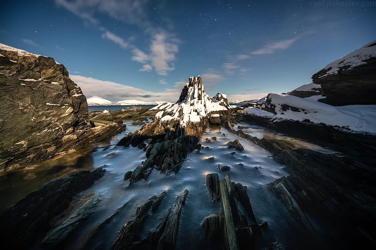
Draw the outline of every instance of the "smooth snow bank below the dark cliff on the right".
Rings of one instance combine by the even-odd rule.
[[[376,105],[331,106],[297,96],[270,93],[265,109],[249,107],[242,113],[294,121],[310,121],[356,132],[376,133]],[[274,113],[273,113],[274,112]]]

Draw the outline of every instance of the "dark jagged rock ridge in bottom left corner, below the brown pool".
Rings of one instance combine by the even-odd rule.
[[[88,189],[105,172],[106,170],[102,167],[91,172],[87,170],[74,172],[68,177],[49,181],[41,189],[27,195],[0,218],[1,228],[6,229],[0,236],[3,247],[5,249],[30,248],[40,235],[51,229],[50,221],[68,208],[74,196]],[[68,213],[67,217],[63,217],[68,220],[61,221],[62,223],[50,231],[44,241],[46,246],[54,246],[65,238],[81,220],[91,214],[97,201],[99,201],[99,196],[90,196],[85,199],[84,203],[88,202],[85,213],[82,213],[81,206],[73,206],[80,210],[74,209],[72,213]]]

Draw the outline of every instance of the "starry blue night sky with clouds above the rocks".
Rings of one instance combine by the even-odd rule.
[[[194,75],[210,96],[282,93],[375,39],[376,1],[15,0],[0,16],[1,43],[114,102],[175,102]]]

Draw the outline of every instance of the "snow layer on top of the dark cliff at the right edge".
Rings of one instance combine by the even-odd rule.
[[[367,43],[363,47],[357,49],[356,51],[351,52],[348,55],[345,55],[325,66],[326,74],[320,76],[319,78],[327,75],[337,75],[338,70],[353,69],[356,66],[366,64],[365,60],[376,57],[376,40]]]

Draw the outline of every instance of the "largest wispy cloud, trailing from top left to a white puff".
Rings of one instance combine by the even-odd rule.
[[[156,29],[146,20],[148,0],[55,0],[55,2],[103,31],[102,38],[109,39],[124,49],[132,48],[132,60],[145,64],[139,71],[155,70],[158,75],[166,76],[169,71],[175,69],[173,61],[176,60],[180,40],[166,30]],[[99,20],[94,16],[95,13],[107,14],[113,19],[127,24],[137,24],[147,30],[151,34],[149,51],[143,52],[131,45],[130,39],[125,40],[105,27],[100,27]]]

